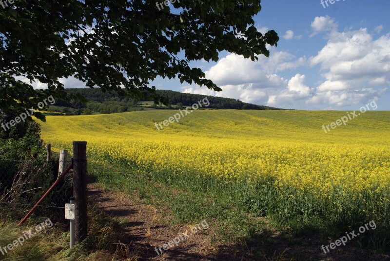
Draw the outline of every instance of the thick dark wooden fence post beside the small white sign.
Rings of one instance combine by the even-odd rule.
[[[73,141],[73,196],[75,197],[75,240],[87,237],[87,142]]]

